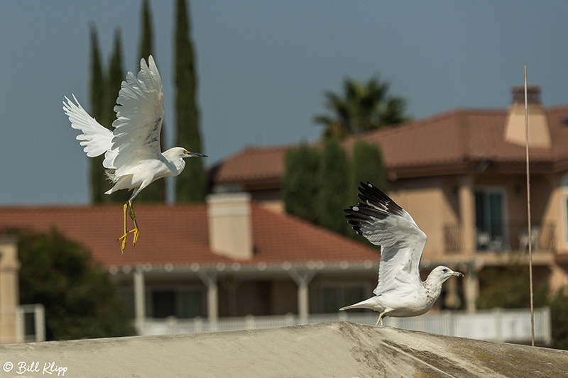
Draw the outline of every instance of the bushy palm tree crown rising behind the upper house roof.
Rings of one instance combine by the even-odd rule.
[[[378,76],[368,82],[345,79],[343,94],[325,92],[326,108],[331,112],[315,116],[314,122],[324,126],[324,138],[345,138],[385,126],[408,121],[402,97],[388,96],[388,82]]]

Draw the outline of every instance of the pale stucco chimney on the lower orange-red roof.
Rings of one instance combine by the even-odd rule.
[[[253,257],[251,195],[219,193],[207,196],[209,245],[213,252],[235,260]]]

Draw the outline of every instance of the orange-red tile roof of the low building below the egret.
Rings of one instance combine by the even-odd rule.
[[[252,260],[258,262],[364,262],[378,260],[373,248],[356,243],[291,216],[252,206]],[[209,249],[205,205],[136,206],[140,237],[124,255],[116,239],[121,235],[122,206],[5,206],[0,207],[0,230],[24,228],[45,231],[55,227],[92,251],[105,267],[138,264],[190,265],[231,262]],[[132,238],[130,238],[132,240]]]

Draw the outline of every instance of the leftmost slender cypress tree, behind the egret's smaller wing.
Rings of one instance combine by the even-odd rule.
[[[104,76],[101,66],[101,57],[99,53],[99,42],[97,38],[97,28],[92,24],[90,26],[91,35],[91,83],[90,83],[90,96],[91,96],[91,114],[92,116],[104,124]],[[104,200],[104,167],[102,161],[104,155],[97,156],[89,159],[89,179],[91,184],[91,201],[93,203],[100,203]]]

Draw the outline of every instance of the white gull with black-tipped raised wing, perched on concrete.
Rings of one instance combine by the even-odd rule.
[[[449,277],[464,277],[448,267],[436,267],[425,282],[420,279],[420,259],[426,244],[426,234],[413,218],[382,191],[361,182],[362,202],[346,209],[345,216],[358,235],[381,246],[378,265],[378,285],[375,296],[339,308],[371,308],[381,313],[377,323],[383,325],[385,316],[417,316],[427,312],[442,292]]]

